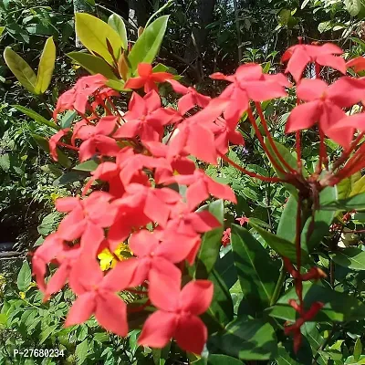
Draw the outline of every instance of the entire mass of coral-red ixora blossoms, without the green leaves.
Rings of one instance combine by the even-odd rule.
[[[287,122],[287,132],[318,123],[321,134],[350,150],[354,130],[365,130],[365,117],[347,117],[344,109],[365,99],[365,80],[341,78],[331,86],[319,79],[300,80],[309,62],[315,63],[317,70],[328,66],[345,73],[346,63],[337,56],[341,53],[332,45],[298,45],[284,55],[287,72],[298,82],[298,105]],[[348,64],[357,68],[361,65],[365,65],[362,59]],[[67,282],[77,294],[67,325],[82,323],[94,314],[101,326],[125,336],[128,308],[117,293],[141,286],[149,297],[146,305],[152,304],[157,310],[145,322],[139,342],[162,347],[174,338],[183,349],[200,353],[207,330],[198,316],[210,306],[213,285],[197,280],[181,289],[182,269],[185,263],[193,264],[202,234],[221,223],[214,215],[195,209],[210,196],[236,201],[228,186],[198,169],[189,155],[213,164],[221,157],[263,181],[293,183],[301,172],[300,157],[297,171],[287,167],[270,137],[260,105],[262,101],[287,96],[286,88],[291,84],[284,74],[267,75],[261,66],[248,64],[239,67],[235,75],[215,73],[212,78],[230,84],[218,98],[210,99],[193,88],[183,87],[169,73],[153,73],[151,65],[141,64],[138,71],[139,76],[130,78],[126,88],[144,88],[146,94],[142,97],[133,92],[125,114],[111,100],[118,93],[106,87],[106,79],[100,75],[80,78],[73,89],[58,99],[55,120],[63,110],[77,110],[81,120],[50,139],[52,156],[57,160],[57,146],[69,147],[78,151],[81,162],[94,158],[99,166],[91,172],[83,197],[57,200],[57,210],[67,215],[57,232],[36,250],[33,270],[46,298]],[[183,95],[178,110],[162,106],[157,84],[163,81]],[[267,150],[251,101],[255,102],[277,159],[287,171]],[[285,179],[248,172],[225,156],[229,144],[244,143],[236,128],[245,111],[268,158],[285,172]],[[324,156],[320,157],[324,161]],[[347,170],[345,166],[345,172],[330,175],[327,184],[353,172],[355,162]],[[107,183],[108,192],[96,191],[96,181]],[[186,193],[177,193],[176,185],[186,186]],[[245,218],[240,219],[240,224],[245,222]],[[97,264],[98,253],[105,247],[114,251],[121,242],[128,243],[132,257],[104,275]],[[58,268],[46,283],[50,262],[57,263]],[[292,272],[300,276],[300,264]],[[299,276],[300,283],[306,279]],[[300,302],[297,310],[301,321],[293,328],[296,334],[309,316]],[[311,309],[309,317],[316,311],[317,308]]]

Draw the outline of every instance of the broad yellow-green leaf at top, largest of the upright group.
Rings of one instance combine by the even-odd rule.
[[[119,59],[122,48],[120,36],[107,23],[87,13],[77,13],[75,15],[75,29],[81,43],[90,52],[97,53],[110,65],[113,64],[114,57]],[[107,39],[113,48],[113,56],[110,55]]]

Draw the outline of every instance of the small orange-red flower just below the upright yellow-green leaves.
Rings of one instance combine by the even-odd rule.
[[[173,78],[173,75],[168,72],[153,72],[151,65],[148,63],[138,65],[138,75],[137,78],[130,78],[124,85],[124,89],[141,89],[144,86],[144,92],[146,93],[151,90],[158,91],[158,82],[165,82]]]

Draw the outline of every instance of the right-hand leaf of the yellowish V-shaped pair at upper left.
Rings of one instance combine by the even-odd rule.
[[[36,75],[36,94],[43,94],[51,82],[56,62],[56,46],[53,36],[47,39],[39,61],[38,73]]]

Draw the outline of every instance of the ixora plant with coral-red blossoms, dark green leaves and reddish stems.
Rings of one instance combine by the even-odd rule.
[[[365,304],[336,291],[333,283],[320,284],[327,274],[316,265],[316,247],[328,235],[337,212],[365,207],[364,194],[339,199],[338,193],[341,183],[365,167],[365,114],[346,113],[365,99],[365,80],[342,76],[328,85],[320,78],[323,68],[343,75],[348,68],[365,69],[365,58],[346,63],[341,54],[331,44],[299,44],[283,56],[286,73],[297,82],[297,106],[286,126],[287,133],[296,136],[296,159],[284,156],[274,141],[261,104],[287,97],[287,89],[294,87],[286,75],[265,74],[260,65],[243,65],[235,75],[212,75],[229,82],[214,99],[184,87],[170,73],[152,72],[148,63],[140,63],[138,75],[124,86],[138,90],[127,111],[120,110],[115,102],[119,93],[102,75],[80,78],[61,95],[54,120],[64,110],[75,110],[79,119],[51,137],[50,152],[57,160],[57,148],[68,148],[78,152],[80,162],[96,167],[82,196],[57,199],[57,210],[66,216],[32,260],[45,299],[67,282],[78,296],[66,326],[94,315],[103,328],[126,336],[129,323],[133,327],[139,318],[143,325],[138,342],[144,346],[163,348],[175,339],[182,349],[198,355],[207,344],[211,354],[268,360],[277,353],[284,358],[276,336],[292,335],[297,352],[308,322],[363,319]],[[302,78],[308,64],[316,78]],[[183,95],[177,110],[162,106],[162,82]],[[248,171],[227,157],[231,144],[244,144],[237,130],[244,113],[277,176]],[[319,156],[315,172],[308,174],[300,140],[302,130],[312,127],[318,128]],[[343,148],[333,161],[326,137]],[[282,257],[281,270],[245,228],[232,228],[235,269],[244,294],[236,315],[224,281],[214,270],[223,203],[199,208],[210,196],[235,203],[235,194],[206,175],[192,156],[211,164],[221,159],[252,178],[285,184],[291,193],[276,235],[249,222]],[[99,253],[105,248],[114,252],[121,243],[130,250],[129,257],[107,273],[101,271]],[[46,282],[51,262],[58,267]],[[286,289],[286,270],[294,286],[280,297]],[[138,300],[127,301],[120,292]],[[336,303],[340,301],[345,307]]]

